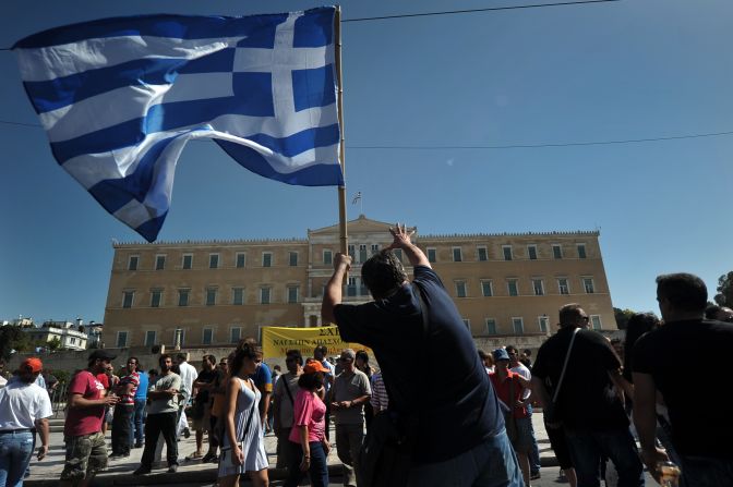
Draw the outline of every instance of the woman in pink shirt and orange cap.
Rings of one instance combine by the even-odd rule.
[[[298,379],[300,390],[296,394],[290,431],[290,465],[285,487],[297,487],[308,472],[313,487],[328,485],[326,459],[331,445],[326,439],[326,404],[319,391],[323,389],[324,374],[328,369],[319,361],[308,361]]]

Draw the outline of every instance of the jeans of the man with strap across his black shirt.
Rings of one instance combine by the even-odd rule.
[[[618,472],[618,487],[642,487],[644,466],[628,428],[611,431],[566,429],[578,487],[599,487],[601,456],[610,459]]]

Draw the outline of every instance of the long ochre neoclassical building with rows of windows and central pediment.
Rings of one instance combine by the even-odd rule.
[[[355,265],[346,302],[370,300],[361,264],[392,242],[388,227],[363,215],[348,223]],[[309,230],[305,239],[113,244],[105,346],[206,348],[259,337],[263,326],[321,326],[338,236],[333,226]],[[413,241],[477,342],[539,345],[570,302],[585,307],[592,328],[616,329],[598,238],[597,231],[416,232]]]

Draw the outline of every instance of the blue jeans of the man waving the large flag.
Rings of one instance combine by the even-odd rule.
[[[522,487],[521,471],[506,430],[472,450],[410,471],[409,487]]]

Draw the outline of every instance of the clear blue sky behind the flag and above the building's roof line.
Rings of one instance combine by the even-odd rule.
[[[550,0],[549,0],[550,1]],[[358,1],[345,20],[521,4]],[[525,2],[536,3],[536,2]],[[314,1],[5,0],[0,47],[115,15],[243,15]],[[347,191],[368,217],[420,233],[601,230],[614,306],[656,311],[654,277],[711,294],[733,269],[733,136],[507,146],[733,131],[733,3],[624,0],[344,24]],[[0,120],[38,124],[15,56],[0,51]],[[0,123],[0,319],[101,321],[112,239],[141,241],[51,157],[40,127]],[[335,188],[241,169],[213,143],[179,161],[161,241],[304,238],[338,220]],[[358,216],[349,206],[349,218]]]

